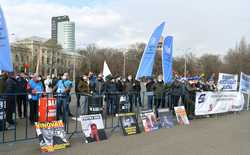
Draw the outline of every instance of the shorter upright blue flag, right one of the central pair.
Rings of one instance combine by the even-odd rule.
[[[172,82],[173,67],[173,37],[167,36],[164,40],[162,50],[162,69],[164,83]]]

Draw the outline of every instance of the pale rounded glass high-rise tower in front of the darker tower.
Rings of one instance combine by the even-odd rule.
[[[75,51],[75,23],[60,22],[57,28],[57,43],[62,46],[65,52]]]

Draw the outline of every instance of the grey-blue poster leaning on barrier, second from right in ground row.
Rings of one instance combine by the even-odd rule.
[[[174,127],[173,114],[168,108],[158,109],[161,128]]]

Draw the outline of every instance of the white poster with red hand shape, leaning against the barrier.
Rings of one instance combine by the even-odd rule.
[[[80,116],[80,122],[86,143],[107,139],[101,114]]]

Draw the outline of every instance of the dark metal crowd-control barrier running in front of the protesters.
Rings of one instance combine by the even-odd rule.
[[[62,94],[41,93],[39,95],[43,95],[46,98],[47,103],[50,97],[57,98],[57,102],[58,99],[62,97]],[[20,96],[23,97],[23,102],[25,102],[23,103],[24,108],[26,108],[26,110],[23,109],[23,111],[25,112],[24,116],[26,116],[24,118],[19,118],[17,116],[17,104],[20,104]],[[114,129],[119,127],[118,118],[116,117],[117,113],[132,111],[136,113],[137,120],[140,120],[138,119],[140,111],[151,108],[151,105],[148,105],[148,103],[152,103],[152,108],[154,110],[156,110],[157,108],[165,107],[170,108],[173,111],[174,106],[178,106],[179,99],[181,97],[183,104],[187,110],[187,114],[194,115],[194,100],[192,98],[177,96],[171,94],[170,92],[166,92],[163,96],[160,97],[148,92],[143,92],[142,96],[140,96],[140,94],[137,92],[113,92],[101,95],[71,93],[68,97],[69,98],[67,99],[71,100],[69,102],[69,109],[74,114],[74,117],[68,117],[68,114],[66,114],[65,116],[67,117],[64,122],[66,132],[70,136],[70,138],[74,136],[74,134],[78,134],[81,132],[80,122],[77,120],[77,118],[80,115],[87,113],[100,112],[103,116],[105,129],[111,130],[111,133],[114,131]],[[30,116],[33,103],[34,102],[31,102],[29,98],[29,94],[0,94],[0,144],[37,138],[35,128],[30,122],[30,118],[33,117]],[[89,105],[86,106],[86,103],[88,103]],[[36,108],[38,108],[38,105]],[[37,115],[35,114],[34,117],[37,120],[38,111],[35,112],[37,112]],[[46,121],[48,121],[48,106],[46,112]],[[6,130],[6,128],[8,128],[8,121],[10,121],[10,115],[14,120],[14,125],[12,129]]]

